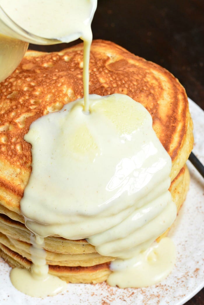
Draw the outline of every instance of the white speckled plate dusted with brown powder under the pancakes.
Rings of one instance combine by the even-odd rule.
[[[189,100],[194,121],[194,154],[204,163],[204,112]],[[118,289],[105,283],[68,284],[67,291],[45,299],[17,291],[9,280],[9,266],[0,258],[1,305],[182,305],[204,287],[204,179],[190,162],[191,184],[169,236],[177,247],[172,273],[159,285],[143,289]]]

